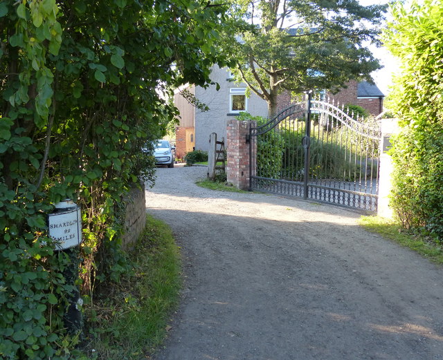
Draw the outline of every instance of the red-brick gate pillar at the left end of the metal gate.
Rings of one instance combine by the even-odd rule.
[[[228,120],[226,131],[226,178],[228,183],[238,189],[249,189],[249,128],[253,122]]]

